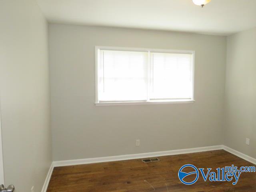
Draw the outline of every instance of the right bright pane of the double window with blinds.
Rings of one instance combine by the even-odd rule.
[[[192,98],[192,54],[150,54],[150,99]]]

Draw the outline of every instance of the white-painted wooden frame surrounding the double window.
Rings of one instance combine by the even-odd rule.
[[[117,101],[117,102],[99,102],[98,99],[98,82],[99,82],[99,61],[100,50],[112,50],[112,51],[142,51],[154,53],[180,53],[180,54],[192,54],[192,98],[191,99],[177,99],[177,100],[149,100],[147,101]],[[150,61],[148,60],[148,65]],[[148,67],[149,69],[149,67]],[[149,49],[149,48],[127,48],[127,47],[109,47],[109,46],[95,46],[95,105],[96,106],[120,106],[120,105],[148,105],[148,104],[183,104],[194,103],[194,70],[195,70],[195,51],[192,50],[166,50],[166,49]],[[149,85],[149,83],[148,83]],[[149,94],[148,94],[149,95]]]

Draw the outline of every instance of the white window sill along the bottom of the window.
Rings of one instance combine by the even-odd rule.
[[[159,100],[159,101],[129,101],[129,102],[101,102],[96,106],[120,106],[120,105],[156,105],[156,104],[185,104],[194,103],[195,100]]]

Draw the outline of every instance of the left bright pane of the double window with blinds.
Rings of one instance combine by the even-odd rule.
[[[100,101],[147,99],[148,52],[100,50]]]

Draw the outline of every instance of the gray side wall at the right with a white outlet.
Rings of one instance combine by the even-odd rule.
[[[224,144],[256,158],[256,28],[228,37],[225,103]]]

